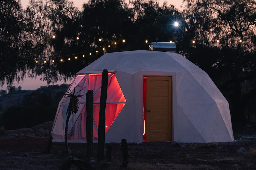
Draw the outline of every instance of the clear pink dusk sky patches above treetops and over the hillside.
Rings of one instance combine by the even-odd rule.
[[[29,0],[20,0],[22,3],[23,8],[25,8],[26,6],[28,6],[28,2]],[[77,6],[78,8],[82,8],[82,4],[85,2],[88,2],[88,0],[73,0],[74,5]],[[126,0],[127,3],[129,3],[129,0]],[[160,5],[163,4],[164,0],[159,0],[158,1]],[[182,4],[182,0],[167,0],[167,4],[173,4],[175,5],[176,8],[180,8],[180,5]],[[71,80],[72,81],[72,80]],[[67,84],[70,84],[71,81],[66,82]],[[64,81],[59,81],[56,84],[63,84],[65,83]],[[36,90],[37,88],[40,88],[40,86],[47,86],[46,82],[40,81],[40,77],[37,77],[37,79],[31,79],[28,76],[26,76],[26,78],[24,79],[24,82],[19,82],[17,83],[16,81],[13,84],[15,87],[21,86],[22,90]],[[52,85],[52,84],[51,84]],[[0,89],[6,90],[6,84],[1,87]]]

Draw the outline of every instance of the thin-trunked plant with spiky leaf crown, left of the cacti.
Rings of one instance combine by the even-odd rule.
[[[78,111],[78,103],[80,102],[78,100],[78,98],[80,97],[83,97],[84,95],[79,95],[79,94],[76,94],[75,93],[75,90],[76,90],[76,84],[74,86],[74,91],[72,93],[72,91],[70,90],[70,88],[68,88],[69,91],[66,91],[67,93],[65,94],[66,98],[69,97],[70,100],[69,100],[69,104],[68,104],[68,109],[67,109],[67,112],[66,112],[66,115],[68,114],[67,116],[67,120],[66,120],[66,126],[65,126],[65,148],[66,148],[66,154],[69,155],[69,148],[68,148],[68,122],[69,122],[69,118],[70,118],[70,115],[73,114],[73,113],[77,113]],[[81,89],[83,90],[83,89]],[[80,90],[80,91],[81,91]],[[80,92],[78,91],[78,93]]]

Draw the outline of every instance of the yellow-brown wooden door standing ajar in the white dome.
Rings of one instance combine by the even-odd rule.
[[[172,77],[147,76],[146,141],[172,140]]]

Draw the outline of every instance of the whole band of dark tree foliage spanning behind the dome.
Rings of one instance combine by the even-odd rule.
[[[89,0],[81,10],[68,0],[30,0],[26,9],[0,3],[1,85],[27,73],[47,83],[67,80],[105,53],[176,40],[177,52],[228,94],[232,118],[246,121],[256,94],[254,0],[183,0],[183,11],[156,0]]]

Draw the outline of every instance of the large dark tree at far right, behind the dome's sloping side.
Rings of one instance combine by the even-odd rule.
[[[243,100],[255,96],[255,90],[251,90],[249,95],[242,89],[241,83],[255,81],[255,1],[185,2],[184,13],[188,14],[186,36],[190,38],[187,46],[190,47],[189,50],[184,49],[183,53],[200,66],[207,63],[206,67],[202,67],[219,84],[220,89],[232,93],[228,97],[232,119],[247,121],[244,115],[246,102]],[[191,43],[192,38],[196,40],[195,44]],[[206,54],[210,56],[206,58]],[[242,97],[242,93],[248,94]]]

